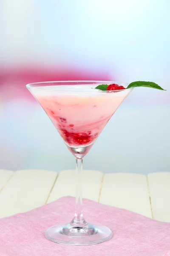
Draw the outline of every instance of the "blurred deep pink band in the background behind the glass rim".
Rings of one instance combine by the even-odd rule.
[[[24,67],[13,70],[0,70],[0,98],[33,99],[26,89],[26,84],[41,81],[63,80],[109,80],[107,73],[79,69],[45,69]]]

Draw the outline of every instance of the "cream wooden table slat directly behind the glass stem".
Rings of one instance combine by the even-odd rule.
[[[83,171],[83,198],[99,200],[103,173],[99,171]],[[62,196],[75,196],[75,170],[65,170],[59,173],[57,181],[48,199],[48,203]]]

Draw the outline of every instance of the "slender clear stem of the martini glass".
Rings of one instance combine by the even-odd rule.
[[[82,214],[82,159],[76,158],[76,211],[71,224],[84,226],[87,224]]]

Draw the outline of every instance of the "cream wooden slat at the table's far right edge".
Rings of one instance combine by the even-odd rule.
[[[170,222],[170,172],[150,173],[147,178],[153,218]]]

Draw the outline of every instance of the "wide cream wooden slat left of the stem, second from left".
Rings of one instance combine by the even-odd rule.
[[[56,178],[56,172],[44,170],[15,172],[0,193],[0,217],[45,204]]]

